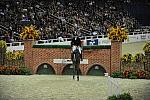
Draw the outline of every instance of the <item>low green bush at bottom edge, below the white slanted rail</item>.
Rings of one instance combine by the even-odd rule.
[[[118,96],[109,96],[107,98],[107,100],[133,100],[132,96],[130,95],[130,93],[123,93],[123,94],[120,94]]]

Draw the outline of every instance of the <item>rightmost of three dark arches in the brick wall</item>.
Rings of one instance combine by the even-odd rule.
[[[87,75],[104,76],[104,73],[106,70],[101,65],[95,64],[89,68]]]

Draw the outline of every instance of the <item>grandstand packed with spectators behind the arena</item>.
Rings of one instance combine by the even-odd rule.
[[[129,35],[145,34],[150,31],[150,22],[145,21],[149,12],[143,17],[149,4],[148,0],[1,0],[0,39],[21,42],[19,34],[30,24],[38,27],[42,41],[71,38],[74,34],[102,38],[114,25],[126,27]]]

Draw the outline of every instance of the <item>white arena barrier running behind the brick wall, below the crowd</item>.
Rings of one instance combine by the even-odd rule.
[[[133,43],[133,42],[141,42],[141,41],[149,41],[150,40],[150,31],[147,32],[132,32],[130,33],[127,41],[123,43]],[[98,45],[111,45],[110,40],[106,35],[97,35],[97,36],[85,36],[81,37],[83,41],[83,45],[87,45],[87,40],[95,40],[98,39]],[[60,39],[49,39],[49,40],[38,40],[36,41],[36,45],[70,45],[71,38],[63,38]],[[13,42],[7,43],[7,51],[13,50],[24,50],[23,42]]]

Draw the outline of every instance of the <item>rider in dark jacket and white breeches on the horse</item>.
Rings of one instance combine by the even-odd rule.
[[[72,47],[72,52],[75,49],[79,50],[81,61],[82,61],[83,59],[82,59],[81,39],[77,35],[72,38],[72,40],[71,40],[71,47]],[[72,58],[72,56],[71,56],[71,58]]]

